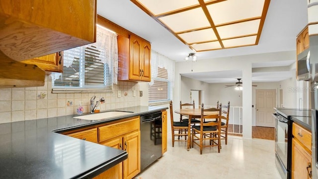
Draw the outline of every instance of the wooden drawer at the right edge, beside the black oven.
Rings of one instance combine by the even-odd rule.
[[[293,136],[310,151],[312,150],[312,133],[300,125],[293,123]]]

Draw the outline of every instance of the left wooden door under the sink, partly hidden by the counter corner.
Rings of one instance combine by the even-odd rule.
[[[122,150],[123,149],[122,148],[123,147],[123,138],[119,137],[119,138],[112,139],[110,141],[101,142],[99,144]],[[107,171],[98,175],[94,179],[123,179],[123,162],[108,169]]]

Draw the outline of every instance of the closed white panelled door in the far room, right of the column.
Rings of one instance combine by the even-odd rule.
[[[256,89],[256,126],[275,127],[276,89]]]

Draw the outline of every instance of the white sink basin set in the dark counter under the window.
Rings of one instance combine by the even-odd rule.
[[[87,114],[87,115],[80,115],[75,116],[73,118],[77,119],[84,119],[84,120],[100,120],[100,119],[106,119],[110,117],[118,117],[122,115],[131,114],[133,112],[130,111],[107,111],[107,112],[100,112],[100,113],[94,113],[94,114]]]

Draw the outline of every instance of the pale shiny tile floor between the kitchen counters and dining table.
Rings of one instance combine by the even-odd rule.
[[[272,140],[230,136],[220,153],[206,147],[200,155],[198,146],[187,151],[185,142],[172,147],[168,136],[168,151],[136,179],[281,179],[274,146]]]

